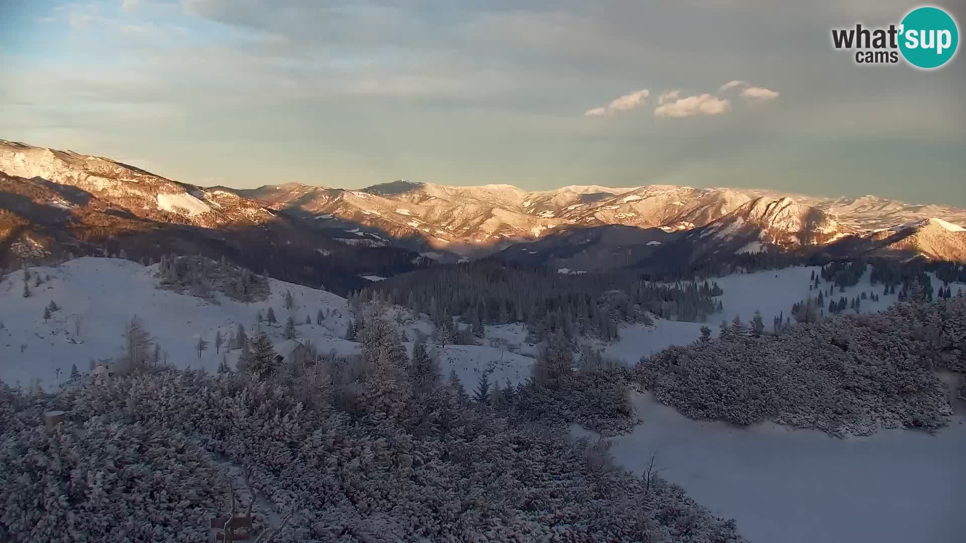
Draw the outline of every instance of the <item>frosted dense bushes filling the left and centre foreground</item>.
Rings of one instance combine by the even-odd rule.
[[[464,409],[441,381],[416,392],[405,351],[372,341],[358,413],[332,407],[315,366],[264,380],[132,373],[57,395],[0,387],[0,540],[201,541],[246,470],[265,497],[256,528],[294,513],[276,541],[741,541],[680,488],[588,464],[586,443],[548,429],[556,414],[522,424]],[[568,417],[599,420],[591,404],[624,405],[608,396],[614,379],[563,380],[523,405],[572,394]],[[389,403],[373,395],[386,390]],[[69,419],[48,432],[53,409]]]

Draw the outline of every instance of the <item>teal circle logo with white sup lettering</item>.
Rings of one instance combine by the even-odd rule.
[[[926,70],[952,59],[959,44],[959,30],[952,16],[939,8],[923,7],[902,18],[899,50],[909,64]]]

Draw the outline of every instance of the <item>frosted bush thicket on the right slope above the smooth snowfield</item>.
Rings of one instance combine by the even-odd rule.
[[[638,376],[658,400],[692,418],[770,419],[834,435],[938,428],[952,408],[930,370],[963,371],[964,305],[900,304],[777,336],[728,334],[643,357]]]

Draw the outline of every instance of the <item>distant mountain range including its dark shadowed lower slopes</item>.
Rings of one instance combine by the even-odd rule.
[[[3,140],[0,172],[0,263],[37,258],[58,245],[79,251],[84,243],[118,245],[126,235],[158,248],[220,243],[243,252],[254,233],[270,240],[256,243],[263,254],[269,246],[277,251],[295,244],[285,250],[317,255],[302,258],[300,266],[322,266],[319,261],[332,260],[333,253],[346,257],[364,249],[384,249],[381,256],[392,254],[395,263],[392,270],[376,270],[371,259],[353,257],[359,266],[323,266],[345,273],[399,272],[428,259],[497,251],[572,270],[634,266],[647,258],[694,263],[803,250],[966,262],[966,232],[957,226],[966,223],[966,210],[876,196],[667,185],[526,191],[409,181],[355,190],[201,187],[109,158]]]

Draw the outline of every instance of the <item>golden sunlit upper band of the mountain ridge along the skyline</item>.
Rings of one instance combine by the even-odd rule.
[[[311,237],[354,247],[394,245],[443,262],[492,254],[517,243],[554,240],[557,234],[570,237],[569,244],[574,229],[608,225],[686,233],[673,240],[643,233],[637,235],[641,243],[634,243],[635,231],[616,236],[613,230],[607,239],[641,245],[628,254],[662,253],[688,261],[815,247],[827,247],[834,255],[872,252],[966,260],[956,230],[961,227],[954,224],[966,223],[966,210],[873,195],[792,198],[776,190],[675,185],[526,190],[506,184],[448,186],[407,180],[356,189],[300,183],[194,186],[106,157],[4,140],[0,171],[9,176],[7,186],[25,186],[16,179],[43,180],[47,186],[32,190],[71,186],[86,191],[99,202],[99,213],[213,230],[287,222],[290,233],[311,232]],[[54,192],[44,192],[46,204],[62,199]],[[8,214],[15,214],[13,206]],[[670,243],[681,246],[670,252]]]

